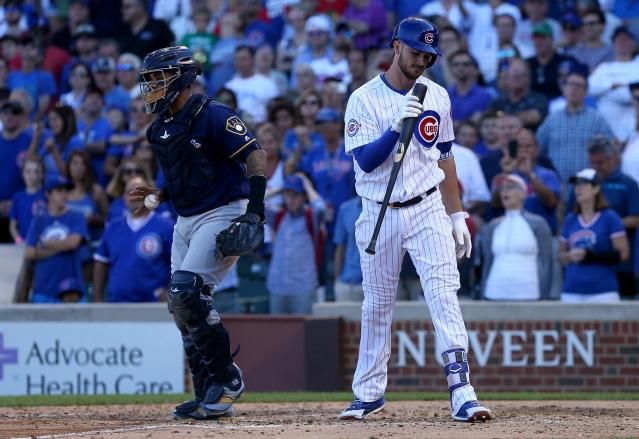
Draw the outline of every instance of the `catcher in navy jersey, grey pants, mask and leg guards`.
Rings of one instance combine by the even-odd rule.
[[[149,53],[139,73],[147,113],[158,114],[146,134],[166,186],[161,191],[138,186],[129,200],[144,201],[147,208],[170,200],[178,213],[168,307],[182,334],[195,399],[172,415],[228,415],[244,382],[213,307],[213,287],[237,256],[263,241],[266,154],[233,110],[192,93],[200,67],[188,48]]]

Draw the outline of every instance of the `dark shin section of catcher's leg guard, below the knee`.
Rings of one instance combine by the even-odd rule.
[[[210,375],[216,382],[224,383],[233,377],[233,358],[229,333],[218,321],[216,324],[201,322],[189,328],[191,340],[202,355]]]

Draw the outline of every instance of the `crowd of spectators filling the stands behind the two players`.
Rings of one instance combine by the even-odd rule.
[[[137,70],[174,44],[202,65],[193,91],[234,108],[267,152],[266,244],[250,260],[267,267],[271,311],[362,300],[343,116],[408,15],[437,25],[445,54],[425,75],[450,94],[471,214],[460,296],[634,298],[635,1],[5,0],[0,241],[25,246],[16,301],[165,297],[175,213],[134,214],[126,193],[163,185]],[[419,298],[403,268],[398,297]],[[234,270],[220,295],[241,283]]]

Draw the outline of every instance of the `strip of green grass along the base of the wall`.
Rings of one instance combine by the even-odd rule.
[[[537,392],[482,392],[482,400],[548,401],[548,400],[624,400],[639,401],[639,393],[537,393]],[[175,404],[190,399],[188,394],[170,395],[55,395],[55,396],[2,396],[0,407],[31,407],[52,405],[109,405],[109,404]],[[346,402],[350,392],[247,392],[239,401],[277,402]],[[389,392],[388,401],[448,401],[444,392]]]

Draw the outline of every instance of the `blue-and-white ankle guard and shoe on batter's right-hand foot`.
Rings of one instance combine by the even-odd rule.
[[[490,410],[477,401],[475,389],[470,385],[470,367],[466,350],[450,349],[442,354],[442,358],[453,419],[464,422],[490,420]]]

